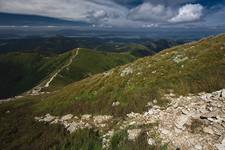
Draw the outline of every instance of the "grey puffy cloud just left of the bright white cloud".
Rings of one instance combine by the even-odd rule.
[[[150,2],[146,2],[132,9],[128,14],[128,18],[148,22],[165,22],[172,15],[173,11],[171,8],[162,4],[153,5]]]

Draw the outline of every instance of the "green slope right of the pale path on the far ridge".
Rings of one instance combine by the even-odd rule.
[[[79,81],[96,73],[104,72],[118,65],[134,61],[136,57],[128,53],[97,52],[81,48],[72,64],[60,72],[49,87],[55,90],[74,81]]]

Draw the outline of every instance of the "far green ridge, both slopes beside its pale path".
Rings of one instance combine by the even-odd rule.
[[[76,51],[76,50],[74,50]],[[54,74],[68,64],[74,51],[63,54],[7,53],[0,55],[0,99],[21,94],[34,86],[46,84]],[[96,52],[80,49],[71,63],[60,70],[44,91],[56,90],[91,74],[104,72],[136,59],[130,54]],[[41,82],[41,83],[40,83]],[[53,85],[53,86],[52,86]]]

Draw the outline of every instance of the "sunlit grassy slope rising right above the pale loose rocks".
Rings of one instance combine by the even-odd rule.
[[[161,96],[169,90],[182,95],[218,90],[225,84],[224,42],[223,35],[162,51],[153,57],[117,67],[109,76],[97,74],[73,83],[36,107],[56,114],[121,115],[142,111],[146,103],[155,98],[159,104],[166,104]],[[177,64],[173,59],[179,55],[188,60]],[[132,68],[133,73],[121,77],[127,67]],[[111,107],[115,100],[121,102],[117,109]]]

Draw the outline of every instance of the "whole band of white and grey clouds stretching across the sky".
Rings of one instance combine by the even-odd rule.
[[[196,0],[144,0],[144,3],[134,8],[127,8],[115,1],[119,0],[0,0],[0,12],[120,27],[192,22],[203,16],[203,6],[186,4]],[[181,6],[184,3],[186,5]]]

